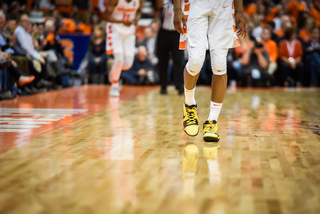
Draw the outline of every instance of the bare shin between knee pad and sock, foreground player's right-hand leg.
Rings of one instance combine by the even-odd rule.
[[[211,101],[223,103],[223,98],[227,90],[228,75],[213,75]]]

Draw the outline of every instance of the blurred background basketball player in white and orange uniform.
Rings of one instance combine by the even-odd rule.
[[[143,0],[109,0],[106,5],[107,54],[114,62],[109,74],[110,95],[119,96],[119,78],[122,70],[133,63],[135,50],[135,25],[141,17]]]

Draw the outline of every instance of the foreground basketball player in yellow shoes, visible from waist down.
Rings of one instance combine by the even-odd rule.
[[[183,11],[181,1],[183,1]],[[189,136],[196,136],[199,132],[194,93],[206,49],[209,49],[214,75],[210,114],[203,124],[203,139],[208,142],[218,142],[220,137],[217,121],[227,88],[228,49],[240,46],[237,35],[246,36],[247,33],[243,2],[235,0],[234,5],[232,0],[174,0],[174,26],[181,34],[180,48],[186,48],[189,57],[184,70],[184,131]]]

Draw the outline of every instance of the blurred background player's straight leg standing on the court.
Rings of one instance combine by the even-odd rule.
[[[119,78],[124,64],[122,37],[120,35],[113,35],[112,43],[114,60],[109,74],[109,81],[111,82],[110,95],[119,96]]]

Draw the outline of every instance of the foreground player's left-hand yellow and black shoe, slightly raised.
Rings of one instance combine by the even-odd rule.
[[[183,128],[187,135],[194,137],[199,133],[197,105],[183,105]]]

